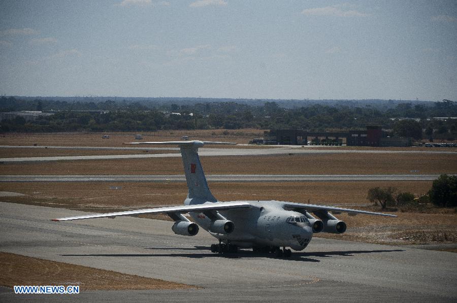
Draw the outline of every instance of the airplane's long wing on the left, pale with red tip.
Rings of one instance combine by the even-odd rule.
[[[247,202],[208,202],[197,205],[182,205],[182,206],[170,206],[170,207],[158,207],[149,209],[129,210],[112,213],[99,213],[92,215],[76,216],[51,219],[51,221],[69,221],[69,220],[80,220],[80,219],[91,219],[91,218],[114,218],[117,216],[136,216],[139,214],[150,214],[150,213],[188,213],[190,211],[207,211],[207,210],[226,210],[234,208],[249,208],[251,205]]]

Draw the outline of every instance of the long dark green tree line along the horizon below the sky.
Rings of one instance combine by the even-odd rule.
[[[381,102],[381,101],[379,101]],[[22,117],[3,120],[2,132],[53,131],[155,131],[167,129],[303,129],[307,131],[346,131],[379,125],[392,135],[415,139],[457,134],[457,102],[392,103],[392,106],[358,106],[358,103],[303,103],[285,108],[274,101],[250,105],[235,101],[193,104],[129,102],[60,101],[48,99],[22,100],[0,98],[0,111],[38,110],[53,112],[36,121]],[[389,104],[389,101],[384,101]],[[383,103],[383,104],[384,104]],[[354,105],[355,104],[355,105]],[[384,105],[385,105],[384,104]],[[108,111],[108,112],[102,112]],[[401,118],[401,119],[395,119]],[[413,120],[414,119],[414,120]]]

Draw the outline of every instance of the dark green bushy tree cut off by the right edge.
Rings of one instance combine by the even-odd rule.
[[[438,206],[457,206],[457,176],[441,175],[433,181],[429,191],[430,202]]]

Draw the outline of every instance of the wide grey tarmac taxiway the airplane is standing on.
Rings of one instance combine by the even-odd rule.
[[[215,239],[173,234],[172,222],[134,217],[52,222],[83,214],[0,203],[0,250],[205,289],[91,291],[46,300],[103,301],[455,301],[457,254],[314,238],[290,259],[209,251]],[[395,219],[393,219],[395,220]],[[350,229],[350,226],[348,226]],[[2,301],[39,299],[1,288]]]

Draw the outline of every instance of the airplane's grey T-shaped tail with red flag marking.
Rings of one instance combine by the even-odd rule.
[[[213,142],[213,141],[168,141],[168,142],[132,142],[124,144],[170,144],[179,145],[181,149],[182,163],[184,165],[184,173],[186,175],[188,199],[197,199],[204,202],[217,202],[217,199],[211,194],[205,173],[203,172],[202,164],[198,154],[199,147],[204,144],[237,144],[229,142]],[[202,202],[202,203],[204,203]]]

